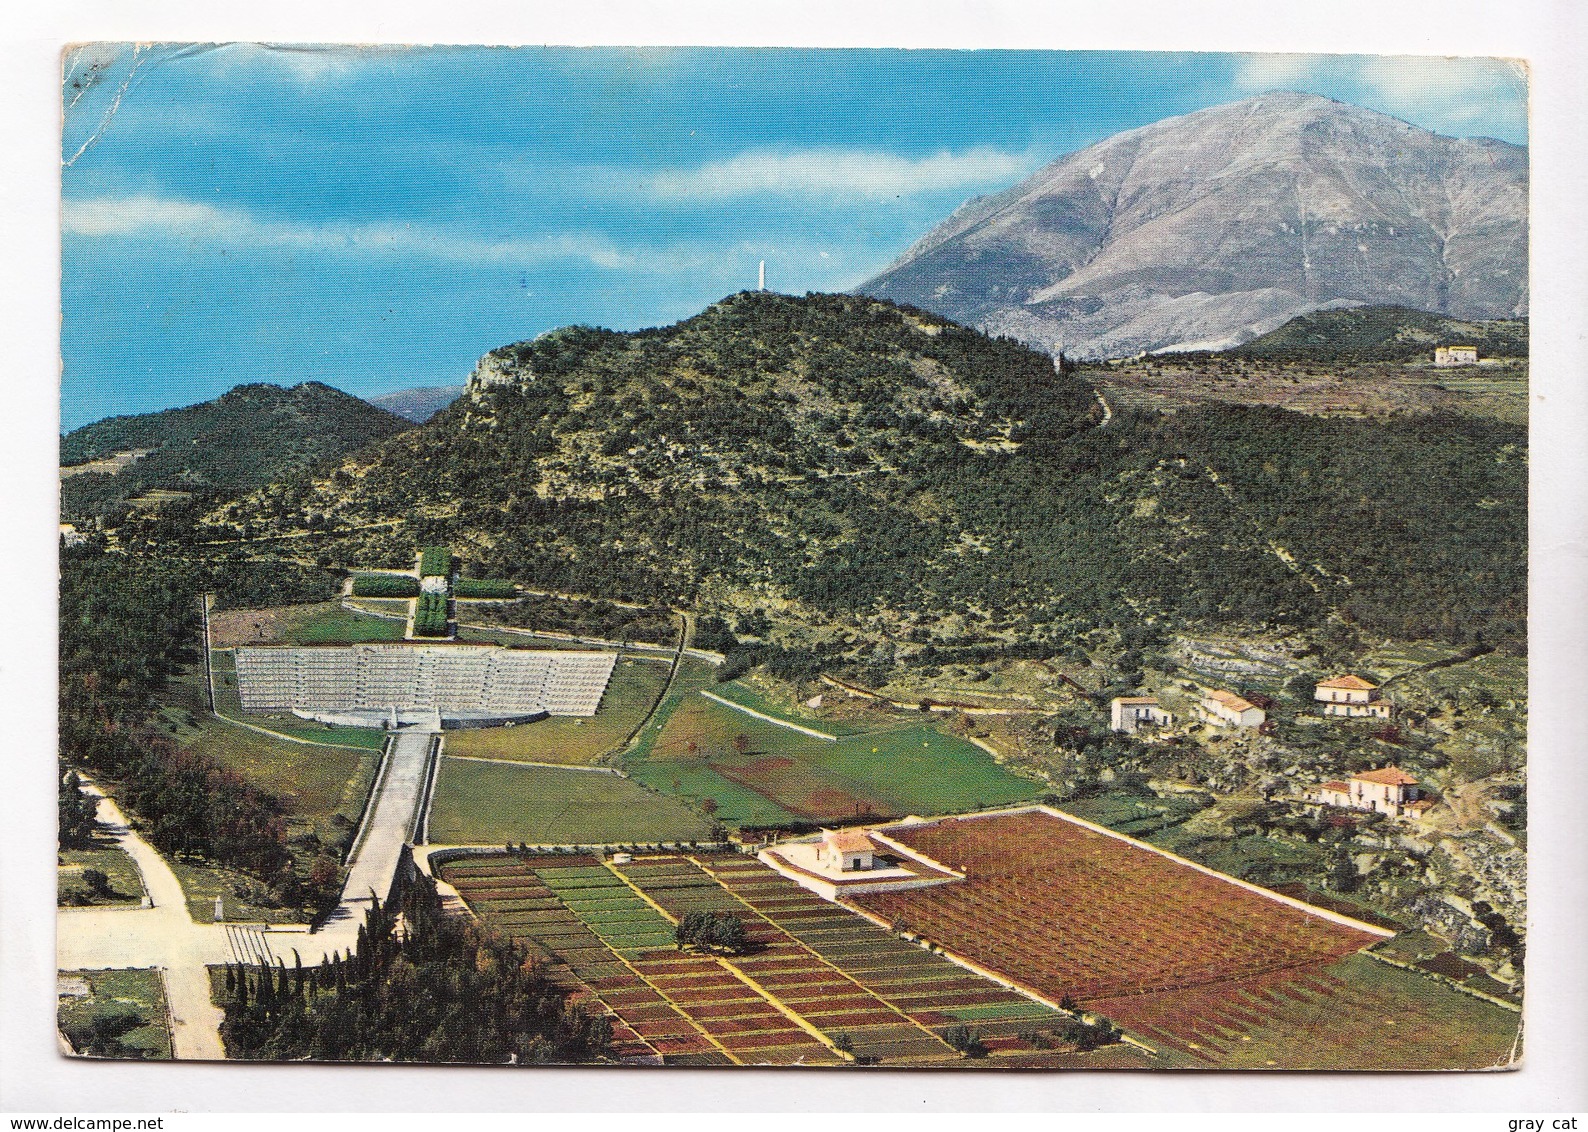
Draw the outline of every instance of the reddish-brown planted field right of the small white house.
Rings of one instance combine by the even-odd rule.
[[[858,907],[1070,995],[1181,1064],[1477,1068],[1509,1056],[1517,1015],[1358,956],[1377,935],[1135,843],[1035,811],[888,832],[967,880]]]

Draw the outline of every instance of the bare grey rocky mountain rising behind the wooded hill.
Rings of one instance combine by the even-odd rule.
[[[858,287],[1072,357],[1224,349],[1320,308],[1528,310],[1528,152],[1309,94],[1118,133]]]

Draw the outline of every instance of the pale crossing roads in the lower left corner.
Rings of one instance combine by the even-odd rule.
[[[60,908],[56,916],[56,965],[60,970],[159,968],[172,1011],[172,1056],[219,1061],[221,1010],[210,1002],[210,964],[232,957],[224,924],[195,924],[176,873],[132,832],[113,800],[100,795],[98,819],[143,876],[149,908]]]

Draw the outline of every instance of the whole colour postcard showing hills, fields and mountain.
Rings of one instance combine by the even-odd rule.
[[[62,98],[64,1054],[1520,1062],[1521,64]]]

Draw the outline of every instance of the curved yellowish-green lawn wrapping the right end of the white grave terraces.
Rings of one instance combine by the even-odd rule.
[[[478,759],[589,765],[629,737],[665,683],[667,665],[624,657],[613,668],[600,711],[592,718],[448,732],[446,749]]]

